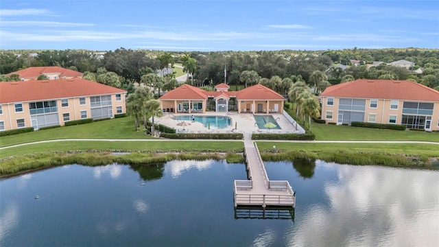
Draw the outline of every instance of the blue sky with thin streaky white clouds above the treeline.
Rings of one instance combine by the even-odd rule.
[[[439,48],[439,1],[1,0],[0,49]]]

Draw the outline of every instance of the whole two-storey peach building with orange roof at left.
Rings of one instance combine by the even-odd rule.
[[[126,91],[82,78],[0,83],[0,131],[126,113]]]

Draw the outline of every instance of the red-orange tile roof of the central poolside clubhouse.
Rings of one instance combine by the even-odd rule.
[[[262,100],[283,100],[282,95],[268,89],[268,87],[257,84],[250,86],[241,91],[204,91],[198,87],[189,84],[183,84],[178,88],[165,93],[158,99],[207,99],[207,97],[218,97],[219,95],[226,95],[228,97],[236,97],[237,99],[262,99]]]

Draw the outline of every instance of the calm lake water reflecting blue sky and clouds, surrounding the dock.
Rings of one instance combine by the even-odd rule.
[[[66,165],[4,179],[0,246],[439,245],[439,172],[320,161],[266,167],[297,191],[294,219],[235,218],[233,180],[246,173],[224,161]]]

